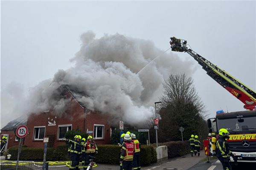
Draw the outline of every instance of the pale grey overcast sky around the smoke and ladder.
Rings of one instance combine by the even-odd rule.
[[[170,47],[171,36],[185,39],[195,52],[255,91],[255,9],[255,1],[2,1],[1,91],[11,82],[28,89],[73,66],[69,60],[88,30],[98,38],[119,33],[151,40],[162,50]],[[189,54],[177,55],[197,68],[192,77],[209,117],[218,109],[244,110]]]

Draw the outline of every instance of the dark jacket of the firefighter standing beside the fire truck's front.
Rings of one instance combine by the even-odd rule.
[[[222,158],[229,158],[231,151],[230,151],[230,147],[229,144],[227,143],[227,141],[225,140],[224,137],[219,136],[217,142],[216,142],[216,156],[222,157]]]

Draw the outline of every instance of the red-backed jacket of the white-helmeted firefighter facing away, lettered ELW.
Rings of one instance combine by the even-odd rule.
[[[122,145],[120,161],[132,161],[134,156],[134,143],[125,141]]]

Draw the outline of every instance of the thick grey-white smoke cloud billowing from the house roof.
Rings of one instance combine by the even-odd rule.
[[[59,98],[57,89],[68,85],[81,92],[75,98],[88,109],[110,113],[129,124],[141,124],[151,117],[151,107],[161,96],[164,79],[177,72],[193,72],[192,63],[172,52],[163,53],[150,40],[120,34],[97,39],[91,31],[81,35],[81,49],[70,61],[74,67],[59,70],[53,79],[29,90],[22,112],[64,112],[69,101]]]

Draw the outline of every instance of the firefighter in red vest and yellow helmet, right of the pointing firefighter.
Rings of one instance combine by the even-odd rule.
[[[90,156],[95,157],[95,153],[98,153],[98,147],[95,141],[93,141],[92,136],[88,136],[85,147],[85,160],[84,160],[84,170],[86,170],[88,164],[90,163]]]

